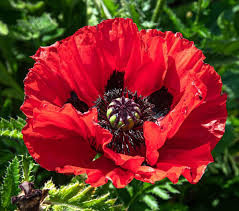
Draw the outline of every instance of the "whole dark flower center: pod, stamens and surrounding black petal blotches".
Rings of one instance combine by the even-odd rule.
[[[130,155],[144,151],[141,150],[145,147],[143,123],[155,122],[167,115],[172,101],[173,96],[165,87],[147,97],[138,96],[137,92],[132,93],[124,88],[124,73],[114,71],[105,86],[104,95],[95,102],[98,124],[113,135],[107,147],[117,153]],[[89,109],[74,91],[66,103],[71,103],[81,112]],[[89,142],[94,150],[101,153],[94,141]]]

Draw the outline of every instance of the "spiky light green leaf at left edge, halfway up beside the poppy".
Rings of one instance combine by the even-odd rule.
[[[21,130],[24,125],[25,120],[21,117],[17,119],[10,118],[10,120],[0,118],[0,136],[22,139]]]

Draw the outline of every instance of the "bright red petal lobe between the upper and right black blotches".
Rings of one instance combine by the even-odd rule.
[[[125,86],[139,95],[159,90],[167,71],[167,45],[161,37],[150,37],[145,30],[135,36],[135,46],[125,69]]]

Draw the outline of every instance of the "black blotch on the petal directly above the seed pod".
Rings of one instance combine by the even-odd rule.
[[[112,89],[123,89],[123,88],[124,88],[124,73],[115,70],[107,82],[105,92],[108,92]]]

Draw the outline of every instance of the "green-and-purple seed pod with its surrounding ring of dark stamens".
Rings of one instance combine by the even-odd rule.
[[[144,146],[143,123],[155,121],[148,97],[127,89],[112,89],[96,101],[98,124],[113,135],[108,147],[118,153],[137,154]]]

